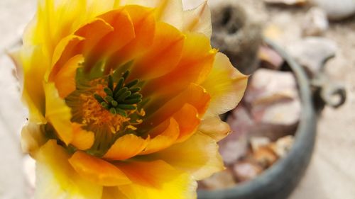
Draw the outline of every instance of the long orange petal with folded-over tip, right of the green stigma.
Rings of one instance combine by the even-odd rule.
[[[207,93],[202,86],[190,84],[190,86],[188,86],[185,91],[179,93],[178,96],[175,96],[175,98],[172,98],[163,106],[159,106],[160,108],[150,115],[149,118],[143,122],[142,126],[154,127],[162,123],[166,118],[177,113],[185,103],[190,103],[190,105],[194,106],[199,114],[199,118],[202,118],[202,115],[204,115],[207,110],[209,100],[209,93]],[[146,111],[149,113],[150,110]]]

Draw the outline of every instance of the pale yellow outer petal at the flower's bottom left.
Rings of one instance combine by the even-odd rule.
[[[36,156],[36,199],[101,199],[102,186],[81,178],[70,166],[69,157],[55,140],[40,148]]]

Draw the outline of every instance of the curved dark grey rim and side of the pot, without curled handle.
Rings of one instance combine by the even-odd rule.
[[[310,163],[316,137],[317,118],[310,81],[305,70],[285,51],[268,39],[266,43],[288,62],[297,79],[302,103],[295,142],[288,155],[251,181],[217,191],[198,191],[199,199],[278,199],[287,198],[297,186]]]

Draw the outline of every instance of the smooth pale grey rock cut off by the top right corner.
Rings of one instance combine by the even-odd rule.
[[[355,13],[354,0],[312,0],[311,2],[322,8],[330,20],[342,20]]]

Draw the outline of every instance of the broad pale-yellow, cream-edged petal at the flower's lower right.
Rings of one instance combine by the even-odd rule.
[[[185,142],[150,155],[151,159],[163,159],[171,166],[187,171],[195,180],[207,178],[224,169],[218,144],[211,137],[195,133]]]

